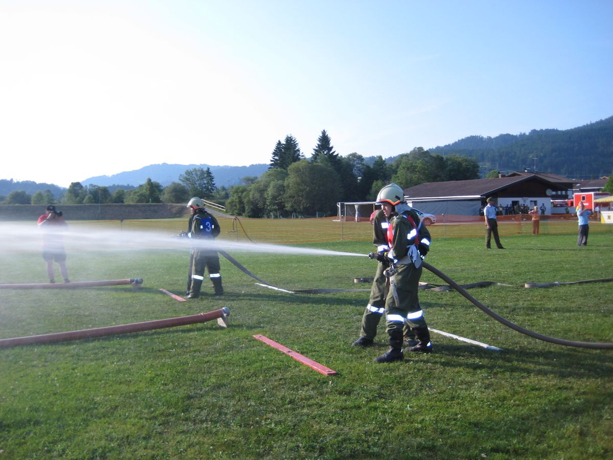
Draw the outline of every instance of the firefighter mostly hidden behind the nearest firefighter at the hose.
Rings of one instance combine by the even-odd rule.
[[[377,254],[383,254],[389,251],[387,245],[387,227],[389,221],[383,213],[383,209],[373,212],[373,244],[376,247]],[[389,262],[386,260],[379,261],[373,285],[370,288],[370,299],[368,305],[362,315],[362,331],[360,337],[352,343],[353,347],[370,347],[373,345],[373,339],[377,333],[377,325],[381,320],[381,316],[385,312],[385,299],[389,290],[389,278],[384,275],[384,271],[389,268]],[[411,331],[409,326],[404,328],[405,345],[413,347],[417,345],[415,333]]]

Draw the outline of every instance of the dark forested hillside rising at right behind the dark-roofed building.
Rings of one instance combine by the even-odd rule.
[[[572,178],[601,177],[613,171],[613,117],[563,131],[533,129],[528,134],[470,136],[429,151],[476,158],[481,175],[495,169],[523,171],[536,164],[542,172]]]

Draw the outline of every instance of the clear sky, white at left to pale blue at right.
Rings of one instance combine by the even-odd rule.
[[[269,163],[613,115],[613,2],[0,0],[0,178]]]

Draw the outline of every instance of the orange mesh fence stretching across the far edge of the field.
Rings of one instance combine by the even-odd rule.
[[[465,216],[452,219],[438,217],[436,224],[428,227],[432,237],[483,237],[485,224],[478,218],[466,221]],[[498,231],[501,236],[530,235],[532,222],[518,216],[498,218]],[[454,221],[455,220],[455,221]],[[464,220],[464,221],[462,221]],[[219,238],[238,242],[267,243],[314,243],[334,241],[371,241],[372,224],[368,221],[339,221],[338,218],[309,219],[250,219],[218,216],[221,234]],[[109,220],[74,221],[71,224],[87,224],[120,228],[126,230],[151,230],[178,234],[187,226],[186,219],[146,219],[146,220]],[[541,218],[541,234],[574,234],[577,232],[576,218]],[[613,233],[613,224],[590,222],[590,233]]]

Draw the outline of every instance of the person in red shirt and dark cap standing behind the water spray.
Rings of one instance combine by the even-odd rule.
[[[64,278],[64,283],[70,283],[63,236],[63,232],[68,228],[68,224],[64,221],[63,213],[61,211],[58,212],[54,205],[48,205],[45,213],[38,218],[38,226],[42,231],[42,258],[47,262],[49,282],[55,283],[53,262],[57,262],[59,272]]]

